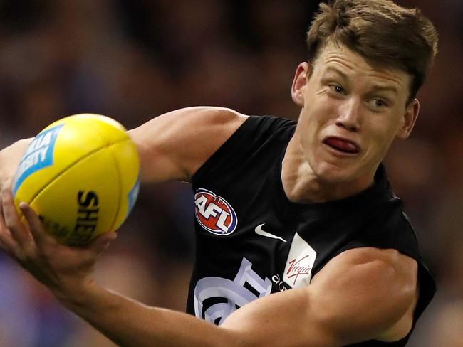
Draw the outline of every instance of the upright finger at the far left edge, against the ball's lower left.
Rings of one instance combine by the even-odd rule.
[[[27,249],[32,242],[31,234],[19,220],[18,211],[13,201],[13,194],[10,188],[2,189],[1,203],[3,204],[4,220],[6,227],[10,230],[11,236],[19,247]]]

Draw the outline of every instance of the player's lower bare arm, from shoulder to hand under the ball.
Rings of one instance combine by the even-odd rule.
[[[371,338],[394,341],[410,330],[417,264],[395,250],[362,248],[328,262],[312,284],[257,299],[221,327],[194,316],[145,306],[93,281],[105,234],[86,248],[59,245],[33,210],[2,191],[0,245],[61,303],[120,346],[335,347]]]

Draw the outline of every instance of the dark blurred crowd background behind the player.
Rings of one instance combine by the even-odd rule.
[[[68,114],[137,127],[194,105],[297,119],[311,0],[0,0],[0,148]],[[438,292],[411,347],[463,346],[463,1],[419,6],[440,33],[412,137],[386,167]],[[184,311],[194,257],[187,183],[143,186],[98,280]],[[0,253],[0,347],[113,346]]]

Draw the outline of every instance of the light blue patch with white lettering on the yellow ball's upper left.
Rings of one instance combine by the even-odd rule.
[[[47,129],[38,134],[29,144],[23,158],[19,162],[13,181],[13,194],[16,194],[21,183],[32,173],[53,165],[53,149],[56,138],[64,124]]]

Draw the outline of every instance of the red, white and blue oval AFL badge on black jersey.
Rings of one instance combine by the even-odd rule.
[[[204,229],[214,235],[230,235],[236,229],[236,213],[224,198],[206,189],[194,194],[194,215]]]

